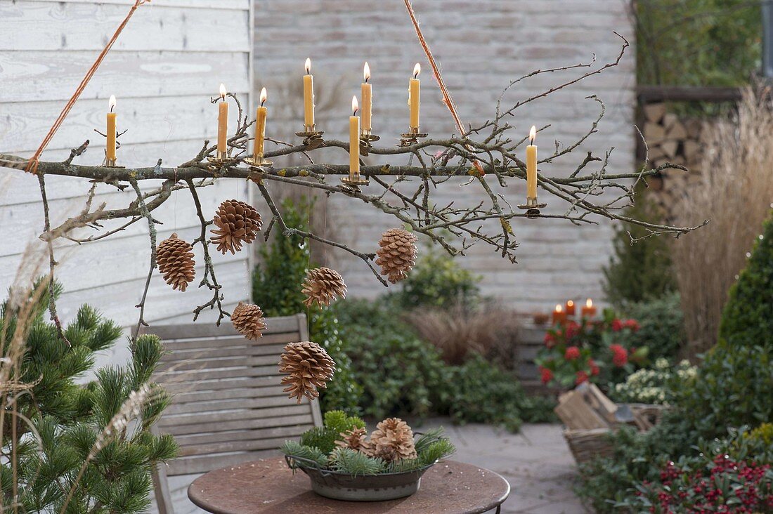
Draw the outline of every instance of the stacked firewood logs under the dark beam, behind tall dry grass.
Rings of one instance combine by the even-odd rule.
[[[645,104],[642,111],[645,121],[642,133],[649,148],[649,168],[670,162],[690,170],[666,169],[660,176],[647,181],[652,191],[649,197],[664,209],[666,219],[669,219],[669,206],[686,191],[690,175],[700,174],[703,121],[679,117],[669,112],[665,103]]]

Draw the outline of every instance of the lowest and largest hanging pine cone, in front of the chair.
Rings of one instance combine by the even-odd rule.
[[[288,373],[282,377],[282,385],[288,386],[284,391],[301,403],[304,396],[309,400],[319,396],[316,388],[326,387],[332,379],[335,361],[315,342],[291,342],[284,347],[279,371]]]

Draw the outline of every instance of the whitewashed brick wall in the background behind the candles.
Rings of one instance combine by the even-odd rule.
[[[468,124],[492,116],[495,100],[509,80],[540,68],[587,62],[594,53],[598,63],[613,60],[621,46],[613,30],[633,43],[626,2],[621,0],[415,0],[414,9]],[[373,128],[382,136],[381,144],[392,144],[407,126],[407,79],[416,62],[424,68],[422,129],[436,136],[455,130],[403,2],[258,0],[255,16],[256,85],[269,88],[273,109],[269,131],[274,134],[294,138],[291,132],[300,128],[300,81],[307,56],[312,58],[320,99],[318,124],[326,136],[346,138],[349,104],[352,94],[359,96],[365,60],[373,73]],[[513,87],[506,99],[514,103],[576,74],[533,77]],[[523,135],[532,124],[550,124],[538,141],[545,155],[552,150],[553,140],[570,144],[587,131],[598,104],[584,97],[598,94],[607,106],[599,133],[570,157],[541,169],[567,175],[584,151],[592,149],[603,156],[614,146],[610,169],[629,171],[634,165],[634,85],[634,56],[629,49],[621,66],[519,108],[510,122],[516,125],[516,134]],[[346,155],[336,151],[323,160],[346,162]],[[504,194],[512,203],[519,203],[525,186],[512,184]],[[472,203],[478,191],[475,186],[447,186],[437,198],[438,203],[451,198]],[[564,209],[557,200],[547,199],[548,210]],[[362,250],[373,251],[379,234],[393,226],[366,206],[344,199],[334,199],[332,209],[335,216],[328,223]],[[352,226],[353,220],[358,226]],[[599,298],[601,265],[611,249],[611,228],[600,221],[598,226],[577,228],[558,220],[516,220],[512,225],[521,244],[518,264],[510,264],[482,245],[460,263],[483,275],[486,294],[522,310],[547,308],[567,297]],[[337,266],[353,294],[372,296],[383,291],[362,262],[339,257]]]

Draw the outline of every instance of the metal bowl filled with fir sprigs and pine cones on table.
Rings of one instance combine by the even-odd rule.
[[[318,495],[371,502],[414,494],[424,471],[456,448],[442,428],[414,437],[403,420],[390,417],[368,436],[362,419],[331,410],[324,427],[285,441],[281,451],[291,469],[308,475]]]

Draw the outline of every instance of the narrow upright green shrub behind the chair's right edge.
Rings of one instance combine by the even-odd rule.
[[[284,223],[299,230],[308,229],[308,208],[296,205],[292,199],[282,202]],[[295,315],[306,312],[309,337],[322,346],[335,360],[335,376],[326,389],[320,391],[322,410],[356,410],[356,397],[360,386],[349,371],[351,360],[338,333],[338,320],[329,309],[307,308],[303,304],[301,284],[310,263],[308,241],[297,234],[279,234],[271,244],[261,246],[261,262],[255,266],[252,276],[252,300],[260,305],[267,316]]]

